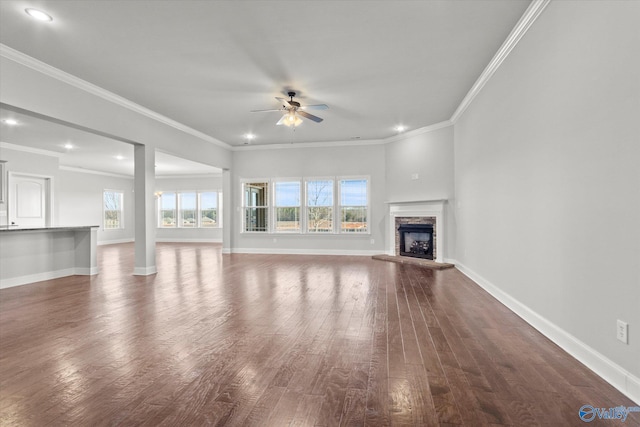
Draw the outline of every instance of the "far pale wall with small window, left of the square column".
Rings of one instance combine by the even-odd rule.
[[[132,242],[134,240],[133,178],[85,173],[60,169],[55,203],[60,212],[58,225],[98,225],[98,244]],[[123,193],[122,229],[103,228],[103,192]]]

